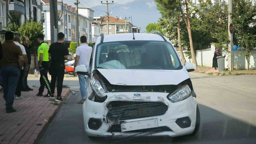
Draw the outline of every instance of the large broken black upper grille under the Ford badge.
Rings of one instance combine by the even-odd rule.
[[[126,103],[125,106],[110,107],[109,105],[118,105]],[[107,117],[113,121],[123,121],[129,119],[145,118],[164,115],[168,106],[162,102],[110,102]]]

